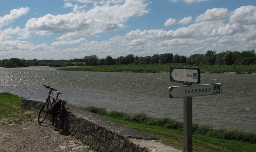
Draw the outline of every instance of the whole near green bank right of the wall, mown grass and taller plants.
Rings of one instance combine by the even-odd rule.
[[[169,118],[155,118],[142,113],[106,111],[105,108],[95,106],[88,106],[84,109],[136,130],[150,133],[159,137],[166,145],[183,149],[183,122]],[[195,152],[253,152],[256,148],[255,143],[255,133],[193,124],[193,150]]]

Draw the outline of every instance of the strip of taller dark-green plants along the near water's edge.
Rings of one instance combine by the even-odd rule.
[[[136,122],[144,125],[161,126],[173,130],[183,130],[183,122],[169,118],[156,118],[147,116],[143,113],[128,114],[120,111],[108,112],[105,108],[98,108],[96,106],[88,106],[82,108],[98,115],[104,115],[123,121]],[[215,129],[212,126],[203,126],[196,123],[193,123],[193,134],[203,135],[205,137],[214,137],[218,139],[256,143],[256,133],[246,133],[239,130]]]

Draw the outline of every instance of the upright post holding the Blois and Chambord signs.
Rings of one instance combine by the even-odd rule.
[[[183,98],[183,125],[183,152],[192,152],[192,97]]]

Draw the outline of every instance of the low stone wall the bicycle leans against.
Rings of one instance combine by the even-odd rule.
[[[22,99],[22,108],[39,111],[44,100]],[[154,136],[66,105],[64,130],[98,152],[180,152]]]

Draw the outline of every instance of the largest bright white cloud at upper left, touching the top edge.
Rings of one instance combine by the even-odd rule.
[[[148,13],[145,0],[126,0],[124,4],[95,6],[89,11],[64,15],[45,15],[32,18],[26,23],[26,29],[39,35],[64,33],[62,38],[75,36],[93,36],[98,33],[123,29],[124,22],[130,17]],[[72,6],[66,4],[66,7]]]

